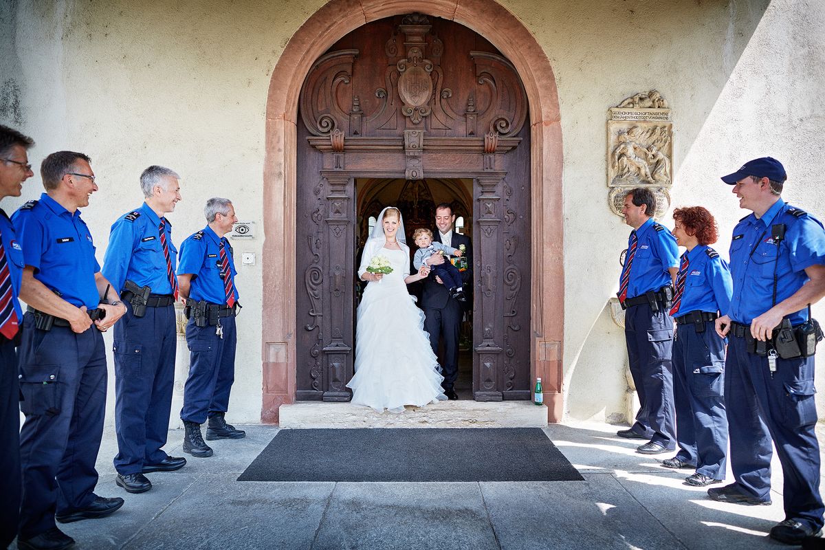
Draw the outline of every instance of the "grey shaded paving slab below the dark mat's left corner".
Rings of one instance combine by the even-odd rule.
[[[122,548],[311,548],[334,483],[242,483],[235,477],[201,477]]]

